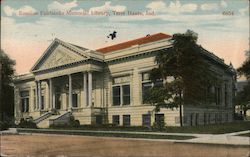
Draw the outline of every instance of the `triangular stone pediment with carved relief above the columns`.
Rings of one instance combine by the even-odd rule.
[[[31,71],[40,71],[72,64],[88,59],[89,56],[73,45],[56,39],[33,66]]]

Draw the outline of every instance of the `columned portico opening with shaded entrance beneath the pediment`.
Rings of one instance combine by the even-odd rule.
[[[81,78],[79,78],[79,76]],[[77,90],[81,91],[75,97],[75,101],[73,104],[73,77],[78,79]],[[92,106],[92,89],[93,89],[93,81],[92,81],[92,72],[80,72],[80,73],[72,73],[68,75],[63,75],[54,78],[48,78],[43,80],[36,80],[36,111],[44,111],[44,110],[67,110],[72,111],[75,108],[84,108]],[[48,96],[42,96],[42,83],[47,84],[49,93]],[[78,88],[80,87],[80,88]],[[56,90],[57,89],[57,90]],[[66,94],[66,95],[64,95]],[[66,97],[65,97],[66,96]],[[47,99],[44,100],[44,97]],[[64,97],[63,101],[58,102],[60,99]],[[80,99],[80,101],[79,101]],[[49,103],[46,103],[49,102]],[[79,103],[80,102],[80,103]],[[64,104],[62,104],[64,103]],[[64,107],[62,107],[64,106]]]

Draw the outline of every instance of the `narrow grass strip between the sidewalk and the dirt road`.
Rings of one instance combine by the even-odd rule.
[[[109,133],[109,132],[92,132],[92,131],[74,131],[74,130],[54,130],[54,129],[18,129],[21,133],[45,133],[45,134],[65,134],[65,135],[84,135],[84,136],[101,136],[101,137],[122,137],[122,138],[142,138],[142,139],[175,139],[187,140],[195,138],[194,136],[175,136],[175,135],[149,135],[149,134],[130,134],[130,133]]]

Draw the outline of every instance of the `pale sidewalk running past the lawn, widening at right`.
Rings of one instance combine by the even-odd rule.
[[[25,129],[21,129],[25,130]],[[28,129],[28,130],[37,130],[37,129]],[[173,135],[173,136],[194,136],[196,138],[188,140],[175,140],[175,139],[142,139],[135,138],[138,140],[151,140],[151,141],[171,141],[171,142],[181,142],[181,143],[203,143],[203,144],[225,144],[225,145],[246,145],[250,146],[250,137],[237,136],[240,134],[249,133],[250,130],[240,131],[234,133],[226,134],[191,134],[191,133],[164,133],[164,132],[133,132],[133,131],[93,131],[93,130],[56,130],[56,129],[39,129],[39,131],[57,131],[57,132],[78,132],[78,133],[125,133],[125,134],[144,134],[144,135]],[[10,128],[9,130],[2,131],[3,134],[17,134],[18,131],[16,128]],[[27,134],[27,133],[18,133],[18,134]],[[28,134],[41,134],[40,133],[28,133]],[[56,133],[53,133],[56,134]],[[62,134],[61,134],[62,135]],[[63,136],[63,135],[62,135]],[[114,137],[117,138],[117,137]],[[131,138],[128,138],[131,139]]]

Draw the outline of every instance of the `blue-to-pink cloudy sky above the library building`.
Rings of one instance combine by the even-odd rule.
[[[98,49],[147,34],[198,33],[198,44],[232,62],[249,50],[248,0],[2,0],[1,49],[28,73],[54,38]],[[107,35],[117,32],[111,40]]]

